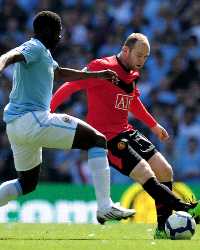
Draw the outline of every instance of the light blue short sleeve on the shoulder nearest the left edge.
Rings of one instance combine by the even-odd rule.
[[[22,53],[27,64],[38,61],[42,52],[42,48],[40,46],[30,42],[22,44],[17,47],[16,50]]]

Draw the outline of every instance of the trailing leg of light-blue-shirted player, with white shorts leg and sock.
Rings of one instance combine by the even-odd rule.
[[[13,150],[15,168],[18,178],[6,181],[0,186],[0,206],[8,201],[33,191],[37,185],[39,169],[42,160],[41,148],[27,142],[26,129],[30,124],[26,116],[16,119],[7,125],[7,134]],[[34,128],[30,128],[34,130]],[[35,167],[37,166],[37,167]]]

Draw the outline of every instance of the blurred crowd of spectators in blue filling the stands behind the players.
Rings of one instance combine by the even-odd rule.
[[[138,86],[149,111],[168,130],[161,144],[134,117],[130,122],[149,137],[173,165],[175,180],[200,180],[200,1],[199,0],[0,0],[0,55],[32,35],[41,10],[61,15],[63,38],[54,58],[82,69],[91,59],[117,54],[132,32],[148,36],[151,56]],[[61,82],[55,83],[56,90]],[[0,78],[0,181],[15,177],[12,152],[2,121],[12,86],[12,67]],[[59,110],[84,119],[84,93]],[[42,181],[91,183],[87,155],[79,150],[44,150]],[[131,183],[112,169],[113,183]]]

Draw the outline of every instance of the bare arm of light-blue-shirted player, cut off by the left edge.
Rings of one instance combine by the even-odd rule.
[[[25,58],[20,52],[14,49],[3,54],[2,56],[0,56],[0,74],[8,65],[20,61],[25,61]]]

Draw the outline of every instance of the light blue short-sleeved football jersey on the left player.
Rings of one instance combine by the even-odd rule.
[[[54,70],[58,67],[50,51],[37,39],[30,39],[15,50],[26,62],[15,63],[9,103],[4,109],[6,123],[30,111],[49,110]]]

